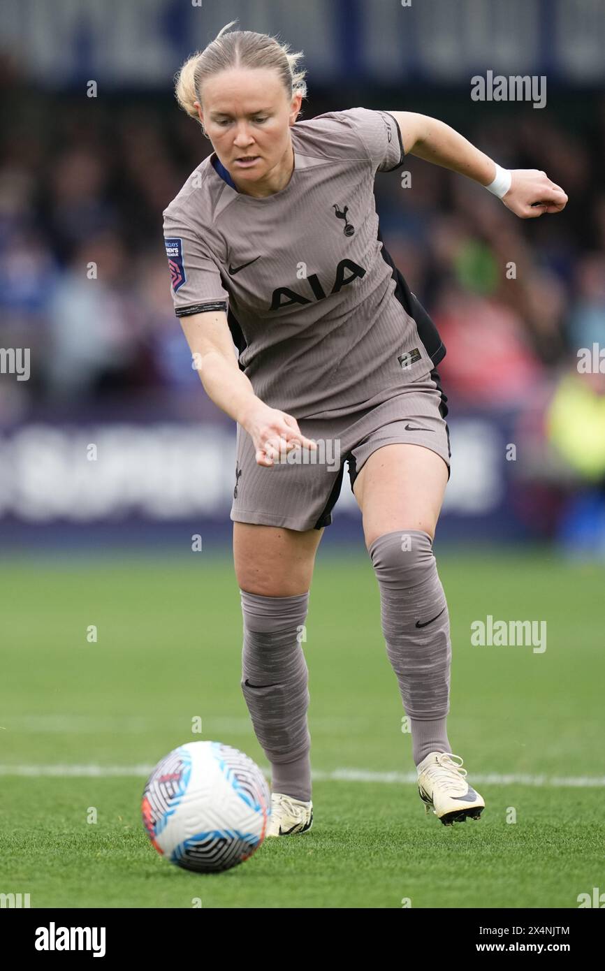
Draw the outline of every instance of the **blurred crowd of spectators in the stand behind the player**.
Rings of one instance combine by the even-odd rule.
[[[161,214],[210,143],[170,97],[33,100],[5,117],[0,157],[0,345],[31,349],[20,401],[196,387]],[[310,101],[303,117],[334,107]],[[578,349],[605,348],[605,101],[582,130],[526,106],[482,118],[458,130],[501,165],[544,169],[569,196],[562,214],[517,218],[413,156],[409,187],[401,170],[378,174],[377,207],[387,250],[447,346],[452,401],[517,406],[574,370]]]

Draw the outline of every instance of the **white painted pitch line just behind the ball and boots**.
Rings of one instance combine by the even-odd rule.
[[[54,778],[97,778],[112,779],[118,777],[147,778],[153,771],[153,765],[0,765],[0,776],[26,776],[40,778],[50,776]],[[268,768],[262,772],[269,778]],[[313,778],[316,782],[348,782],[348,783],[386,783],[386,784],[414,784],[418,776],[415,772],[373,772],[369,769],[334,769],[330,772],[315,770]],[[605,776],[533,776],[528,774],[511,773],[473,773],[472,782],[478,786],[537,786],[550,788],[602,788],[605,787]]]

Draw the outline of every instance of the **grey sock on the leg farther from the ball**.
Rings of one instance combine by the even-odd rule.
[[[387,655],[410,718],[418,765],[429,752],[452,751],[446,729],[452,664],[448,604],[428,533],[385,533],[369,553],[380,587]]]

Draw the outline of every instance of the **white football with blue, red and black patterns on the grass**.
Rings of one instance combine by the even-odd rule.
[[[151,772],[141,812],[159,854],[185,870],[217,872],[262,844],[271,793],[248,755],[220,742],[187,742]]]

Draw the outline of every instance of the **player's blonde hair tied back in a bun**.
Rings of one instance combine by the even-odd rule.
[[[202,104],[202,84],[207,78],[229,68],[274,68],[284,86],[288,99],[300,93],[307,96],[306,71],[298,67],[302,50],[291,52],[289,45],[281,44],[269,34],[257,34],[252,30],[229,30],[237,20],[226,23],[214,41],[204,50],[197,50],[185,60],[175,78],[175,95],[183,111],[195,118],[206,134],[199,119],[195,101]]]

